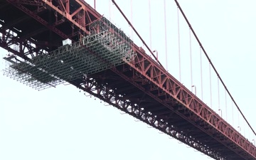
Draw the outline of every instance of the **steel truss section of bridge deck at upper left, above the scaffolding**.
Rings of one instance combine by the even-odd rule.
[[[1,3],[3,3],[2,7],[0,6],[2,11],[5,11],[5,8],[8,9],[6,6],[12,4],[16,6],[17,9],[27,14],[27,16],[17,16],[17,18],[10,23],[5,23],[5,19],[0,18],[0,46],[26,60],[36,55],[48,53],[51,51],[49,48],[52,46],[55,48],[58,47],[56,43],[49,43],[48,41],[32,38],[38,33],[53,31],[60,36],[58,40],[60,43],[61,38],[71,38],[74,41],[78,41],[80,36],[90,34],[88,24],[101,17],[90,5],[80,0],[4,0]],[[72,6],[70,6],[70,4],[72,4]],[[47,18],[41,16],[41,14],[50,10],[53,10],[54,13],[51,23],[48,22]],[[21,29],[19,28],[19,26],[21,26],[20,24],[26,23],[31,17],[44,27],[38,28],[35,31],[29,31],[26,33],[26,36],[19,36],[19,34],[21,34],[20,31],[18,31]],[[7,18],[9,17],[7,16]],[[61,31],[58,27],[65,23],[69,23],[68,28],[71,30],[70,33],[64,33],[64,31]]]

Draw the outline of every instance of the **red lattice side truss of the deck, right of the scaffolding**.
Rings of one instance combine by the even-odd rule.
[[[157,90],[156,97],[164,102],[166,107],[174,103],[173,98],[180,107],[178,110],[186,110],[190,116],[185,117],[184,113],[180,113],[189,122],[195,124],[197,121],[203,120],[197,127],[201,128],[218,142],[227,146],[230,150],[245,159],[256,159],[256,148],[245,137],[237,132],[228,122],[220,117],[217,113],[203,103],[196,95],[193,95],[181,82],[178,82],[164,68],[161,68],[149,55],[146,55],[137,48],[137,56],[134,62],[129,63],[130,67],[137,71],[136,77],[143,77],[139,81],[151,85],[152,90]],[[130,80],[130,79],[129,79]],[[218,134],[217,134],[218,133]]]

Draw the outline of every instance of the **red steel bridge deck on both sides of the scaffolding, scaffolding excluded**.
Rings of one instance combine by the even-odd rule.
[[[66,38],[79,41],[101,17],[80,0],[1,0],[0,46],[29,60]],[[214,159],[256,159],[253,144],[142,48],[134,51],[132,62],[70,83]]]

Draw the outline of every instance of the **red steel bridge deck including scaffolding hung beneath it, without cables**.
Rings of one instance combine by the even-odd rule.
[[[37,90],[63,82],[213,159],[256,159],[256,148],[81,0],[0,0],[4,74]]]

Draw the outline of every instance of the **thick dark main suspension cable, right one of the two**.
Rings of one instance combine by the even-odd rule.
[[[174,0],[176,5],[178,6],[178,9],[180,9],[181,11],[181,14],[183,15],[183,17],[185,18],[185,21],[186,23],[188,23],[188,27],[191,28],[191,31],[193,33],[193,35],[195,36],[196,38],[196,41],[198,41],[198,44],[199,46],[201,46],[202,50],[203,50],[203,53],[206,55],[206,58],[208,59],[210,65],[213,67],[213,70],[215,71],[216,75],[218,76],[218,78],[220,78],[220,75],[218,73],[218,71],[216,70],[215,66],[213,65],[213,63],[211,62],[208,54],[206,53],[206,50],[203,48],[203,45],[201,43],[201,41],[199,41],[199,38],[198,36],[196,35],[196,32],[193,30],[192,26],[191,26],[191,23],[189,23],[188,21],[188,18],[186,17],[186,15],[184,14],[183,10],[181,9],[181,6],[178,4],[178,1],[177,0]],[[222,78],[220,78],[220,82],[223,84],[223,87],[225,88],[225,90],[227,90],[228,92],[228,95],[230,96],[231,100],[233,100],[234,104],[235,104],[235,107],[237,107],[238,111],[240,112],[240,114],[242,115],[242,118],[245,119],[245,122],[248,124],[248,126],[250,127],[250,129],[252,130],[253,134],[256,135],[256,132],[255,130],[252,128],[252,126],[250,125],[250,123],[247,121],[247,119],[245,118],[245,115],[242,113],[242,111],[240,110],[240,107],[238,107],[238,104],[235,102],[233,96],[231,95],[231,93],[229,92],[228,90],[228,87],[225,85],[225,83],[223,82]]]

